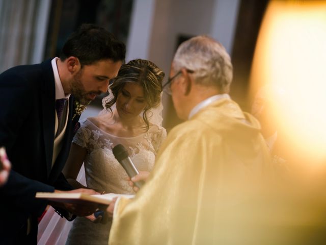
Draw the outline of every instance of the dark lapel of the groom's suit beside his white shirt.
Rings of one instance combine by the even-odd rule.
[[[42,63],[43,86],[42,86],[42,123],[44,148],[47,167],[47,176],[49,176],[52,163],[53,142],[55,138],[55,120],[56,120],[56,90],[55,78],[51,66],[51,60]]]

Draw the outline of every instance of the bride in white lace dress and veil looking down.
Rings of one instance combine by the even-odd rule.
[[[82,186],[76,178],[84,162],[88,188],[103,193],[134,193],[112,148],[124,145],[138,170],[151,171],[157,150],[166,138],[160,115],[164,76],[148,60],[132,60],[121,66],[110,94],[103,99],[104,109],[97,117],[82,122],[73,139],[63,170],[71,185]],[[66,244],[107,244],[110,228],[111,221],[102,225],[77,217]]]

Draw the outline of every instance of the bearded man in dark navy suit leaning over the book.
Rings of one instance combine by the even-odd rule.
[[[0,187],[0,244],[36,244],[37,217],[47,201],[38,191],[88,192],[73,188],[61,173],[78,128],[80,104],[107,91],[125,59],[125,45],[93,24],[84,24],[65,43],[60,58],[16,66],[0,75],[0,146],[12,170]],[[50,203],[88,215],[80,205]]]

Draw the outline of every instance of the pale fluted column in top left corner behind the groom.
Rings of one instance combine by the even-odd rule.
[[[51,0],[0,0],[0,72],[43,60]]]

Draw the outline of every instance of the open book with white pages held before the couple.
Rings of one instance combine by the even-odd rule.
[[[47,199],[53,202],[60,203],[76,203],[76,204],[87,204],[87,203],[98,203],[103,205],[109,205],[111,201],[116,197],[133,198],[134,195],[128,194],[115,194],[108,193],[103,195],[89,195],[85,193],[55,193],[55,192],[37,192],[36,198]]]

